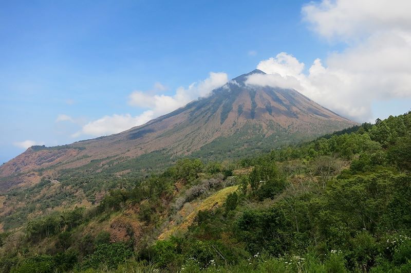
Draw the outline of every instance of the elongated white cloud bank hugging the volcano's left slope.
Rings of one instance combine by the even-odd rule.
[[[101,136],[125,131],[144,124],[156,117],[170,113],[199,97],[206,97],[210,95],[212,90],[225,85],[227,81],[228,76],[226,73],[211,72],[207,79],[194,82],[188,88],[179,87],[172,96],[164,94],[153,95],[153,93],[166,90],[161,83],[157,82],[153,90],[147,92],[134,91],[128,97],[128,104],[130,106],[146,109],[142,114],[138,116],[132,116],[130,114],[104,116],[88,122],[82,127],[81,131],[72,136]]]

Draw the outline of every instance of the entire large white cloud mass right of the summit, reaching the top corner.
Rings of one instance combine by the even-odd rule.
[[[326,39],[346,43],[325,61],[315,59],[307,72],[294,56],[279,53],[259,62],[270,75],[248,83],[293,88],[323,106],[357,121],[373,118],[374,101],[411,98],[411,2],[311,2],[304,20]]]

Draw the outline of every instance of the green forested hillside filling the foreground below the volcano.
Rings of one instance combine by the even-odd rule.
[[[410,171],[408,112],[236,161],[184,158],[142,179],[96,174],[90,191],[91,179],[112,190],[87,208],[2,216],[0,268],[411,272]],[[69,191],[67,181],[32,191]]]

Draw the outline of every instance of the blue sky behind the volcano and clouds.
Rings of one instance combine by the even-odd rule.
[[[302,13],[307,4],[307,1],[3,3],[0,163],[25,150],[20,142],[67,144],[96,137],[87,134],[83,127],[104,116],[141,115],[147,108],[130,102],[130,94],[135,91],[173,97],[179,87],[191,92],[189,86],[196,82],[196,92],[201,93],[201,82],[210,72],[223,72],[233,78],[273,57],[271,68],[275,73],[276,64],[288,64],[285,63],[288,59],[276,58],[281,52],[305,64],[295,76],[298,78],[310,73],[315,59],[320,58],[326,67],[327,60],[334,64],[338,54],[359,47],[362,42],[324,34],[316,26],[323,22],[313,23],[311,15]],[[372,33],[372,29],[367,31]],[[312,82],[310,79],[309,85]],[[308,89],[309,85],[303,86]],[[320,85],[316,84],[315,88],[320,89]],[[404,92],[405,95],[392,100],[389,94],[377,96],[370,102],[367,114],[356,115],[357,112],[342,107],[332,109],[333,104],[326,106],[357,121],[368,121],[409,110],[411,100],[407,91]],[[306,94],[310,95],[309,91]],[[315,100],[315,94],[313,97]]]

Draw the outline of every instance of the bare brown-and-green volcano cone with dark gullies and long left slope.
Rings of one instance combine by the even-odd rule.
[[[47,148],[32,146],[0,167],[0,190],[58,173],[113,165],[147,169],[179,156],[237,157],[307,140],[356,124],[292,89],[247,85],[253,70],[206,98],[119,134]],[[121,165],[123,164],[123,165]],[[97,166],[97,167],[96,167]],[[57,172],[56,172],[57,171]]]

